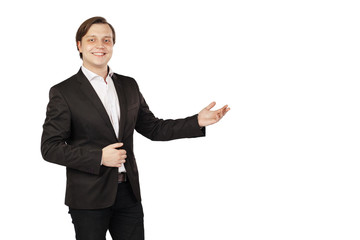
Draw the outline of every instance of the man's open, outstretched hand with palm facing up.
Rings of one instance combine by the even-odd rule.
[[[215,104],[216,102],[212,102],[209,104],[209,106],[199,112],[198,122],[200,127],[206,127],[211,124],[217,123],[230,110],[228,105],[225,105],[218,110],[211,111]]]

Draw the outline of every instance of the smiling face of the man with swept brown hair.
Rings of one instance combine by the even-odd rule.
[[[89,70],[107,67],[113,51],[113,33],[107,24],[93,24],[78,42],[83,64]]]

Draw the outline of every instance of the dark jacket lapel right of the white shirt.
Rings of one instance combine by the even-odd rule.
[[[111,78],[114,82],[116,93],[117,93],[118,99],[119,99],[120,122],[119,122],[119,134],[118,134],[119,138],[118,139],[119,139],[119,141],[122,141],[123,136],[124,136],[124,130],[125,130],[125,119],[126,119],[126,114],[127,114],[126,96],[125,96],[124,88],[121,83],[121,79],[118,76],[116,76],[116,74],[113,74],[113,76]]]

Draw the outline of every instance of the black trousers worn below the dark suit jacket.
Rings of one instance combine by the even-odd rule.
[[[130,183],[119,183],[115,203],[104,209],[73,209],[69,213],[77,240],[105,240],[109,230],[113,240],[143,240],[144,214]]]

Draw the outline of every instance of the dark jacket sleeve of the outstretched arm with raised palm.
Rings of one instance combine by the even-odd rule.
[[[205,136],[205,127],[201,128],[199,126],[197,114],[184,119],[158,119],[150,111],[141,93],[135,129],[143,136],[154,141]]]

